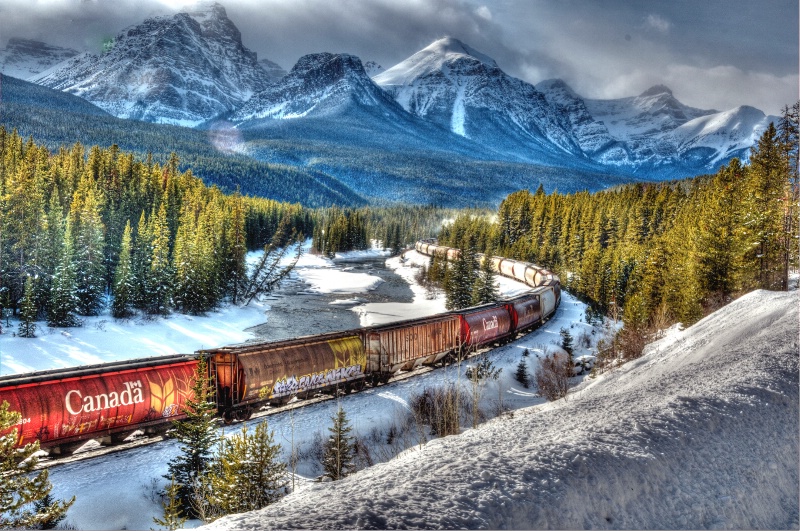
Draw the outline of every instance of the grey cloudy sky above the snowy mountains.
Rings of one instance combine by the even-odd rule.
[[[798,99],[797,0],[220,0],[245,46],[287,70],[312,52],[390,67],[451,35],[537,83],[616,98],[655,84],[704,109],[776,114]],[[78,50],[187,0],[0,0],[0,47]]]

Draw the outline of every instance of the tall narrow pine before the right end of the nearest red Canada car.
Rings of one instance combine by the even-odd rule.
[[[192,504],[197,483],[211,462],[212,448],[217,440],[215,424],[216,405],[213,386],[208,377],[208,364],[200,358],[192,380],[192,394],[182,407],[186,418],[176,421],[170,435],[180,442],[180,454],[169,462],[166,479],[178,484],[178,502],[188,517],[197,516]]]

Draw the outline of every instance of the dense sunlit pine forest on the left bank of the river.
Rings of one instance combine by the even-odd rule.
[[[0,306],[21,317],[23,336],[40,320],[78,325],[109,300],[120,318],[237,302],[247,251],[280,226],[288,241],[311,233],[313,215],[225,195],[174,154],[158,164],[116,146],[51,153],[0,127]]]

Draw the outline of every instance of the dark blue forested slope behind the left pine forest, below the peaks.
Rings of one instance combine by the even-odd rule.
[[[0,77],[0,126],[33,136],[51,150],[81,142],[116,144],[123,151],[149,154],[164,163],[175,152],[181,170],[190,169],[223,191],[267,197],[306,206],[361,206],[363,197],[319,168],[253,160],[236,151],[241,139],[186,127],[123,120],[86,100],[8,76]],[[233,149],[231,149],[233,148]]]

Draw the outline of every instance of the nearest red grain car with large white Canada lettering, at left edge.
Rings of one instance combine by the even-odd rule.
[[[6,376],[0,402],[22,416],[19,445],[117,441],[183,418],[196,367],[194,356],[178,355]]]

